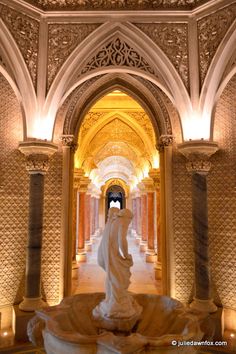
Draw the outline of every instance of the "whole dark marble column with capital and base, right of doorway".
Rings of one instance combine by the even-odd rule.
[[[207,174],[211,168],[209,158],[218,146],[209,141],[195,141],[179,145],[179,150],[188,159],[186,167],[192,176],[195,297],[190,307],[211,313],[217,311],[217,307],[211,298]]]

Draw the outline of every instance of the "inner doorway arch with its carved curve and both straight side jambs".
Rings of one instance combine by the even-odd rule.
[[[148,81],[150,84],[150,82]],[[174,296],[174,256],[173,256],[173,215],[172,215],[172,123],[171,114],[166,101],[163,99],[161,92],[155,96],[155,85],[145,86],[145,80],[140,80],[136,76],[127,73],[113,72],[106,75],[100,75],[97,80],[94,78],[88,81],[85,86],[78,87],[78,91],[71,96],[71,102],[66,106],[63,123],[61,124],[61,132],[63,135],[74,138],[74,142],[78,141],[79,130],[85,115],[89,112],[94,103],[112,90],[119,89],[136,100],[152,122],[156,141],[164,138],[162,149],[160,150],[161,161],[161,190],[162,190],[162,218],[165,227],[163,227],[162,237],[162,264],[163,264],[163,293]],[[81,91],[79,91],[81,88]],[[157,99],[160,98],[161,101]],[[160,96],[160,97],[159,97]],[[69,98],[69,97],[68,97]],[[59,114],[60,119],[62,118]],[[59,119],[59,120],[60,120]],[[167,142],[168,141],[168,142]],[[69,153],[70,151],[70,153]],[[70,260],[70,243],[69,238],[70,227],[70,210],[72,210],[72,190],[73,190],[73,161],[74,151],[63,148],[63,195],[65,197],[62,202],[62,249],[64,250],[64,295],[70,294],[71,288],[71,260]],[[67,166],[67,167],[66,167]],[[64,242],[64,244],[63,244]]]

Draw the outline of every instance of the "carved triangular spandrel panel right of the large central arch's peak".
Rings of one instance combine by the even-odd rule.
[[[186,23],[135,23],[170,59],[189,88],[188,25]]]

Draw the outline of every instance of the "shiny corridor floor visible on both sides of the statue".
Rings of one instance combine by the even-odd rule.
[[[104,292],[105,272],[97,264],[97,249],[101,238],[92,245],[92,252],[87,253],[87,261],[74,266],[72,293]],[[160,294],[161,282],[154,278],[153,263],[146,263],[144,253],[139,251],[134,238],[128,237],[129,253],[134,265],[131,268],[129,291],[134,293]]]

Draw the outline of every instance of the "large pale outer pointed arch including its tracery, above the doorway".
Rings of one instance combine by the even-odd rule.
[[[126,54],[133,53],[133,57],[127,59],[126,54],[124,57],[122,50],[117,49],[120,57],[114,55],[114,59],[105,55],[106,59],[101,61],[98,54],[109,45],[115,51],[116,40],[120,41],[122,50],[126,50]],[[136,57],[138,59],[134,60]],[[174,104],[182,123],[192,113],[187,89],[164,52],[136,26],[109,22],[89,35],[63,64],[49,90],[44,115],[54,120],[57,108],[76,87],[104,74],[131,74],[153,83]]]

